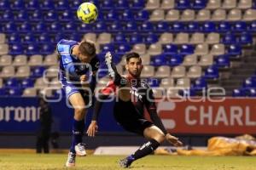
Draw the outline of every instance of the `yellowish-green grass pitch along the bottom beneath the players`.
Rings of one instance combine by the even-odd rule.
[[[65,154],[7,154],[0,153],[0,169],[84,169],[115,170],[124,156],[78,157],[76,167],[65,168]],[[133,162],[136,170],[256,170],[256,156],[147,156]]]

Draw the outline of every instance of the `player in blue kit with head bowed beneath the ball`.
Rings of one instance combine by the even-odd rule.
[[[93,42],[62,39],[57,44],[57,51],[60,55],[59,80],[74,109],[72,144],[66,162],[66,167],[74,167],[75,157],[86,155],[82,143],[85,108],[90,105],[96,87],[99,59]]]

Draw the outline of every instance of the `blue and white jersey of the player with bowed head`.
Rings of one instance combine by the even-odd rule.
[[[61,39],[57,44],[57,51],[60,54],[59,80],[62,84],[67,83],[68,80],[79,82],[80,76],[90,74],[89,71],[95,72],[99,68],[100,63],[97,57],[91,59],[89,64],[83,64],[72,54],[72,48],[78,44],[79,42],[65,39]],[[67,79],[67,77],[69,77],[69,79]]]

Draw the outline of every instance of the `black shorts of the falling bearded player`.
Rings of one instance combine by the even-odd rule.
[[[138,113],[131,101],[116,102],[113,107],[113,116],[125,130],[142,136],[145,128],[153,125],[152,122],[149,122],[143,115]]]

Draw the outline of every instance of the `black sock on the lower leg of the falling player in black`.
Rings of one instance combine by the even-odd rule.
[[[133,155],[131,155],[132,158],[134,158],[133,161],[142,158],[144,156],[148,156],[151,154],[160,143],[156,141],[155,139],[151,139],[146,144],[143,144]]]

